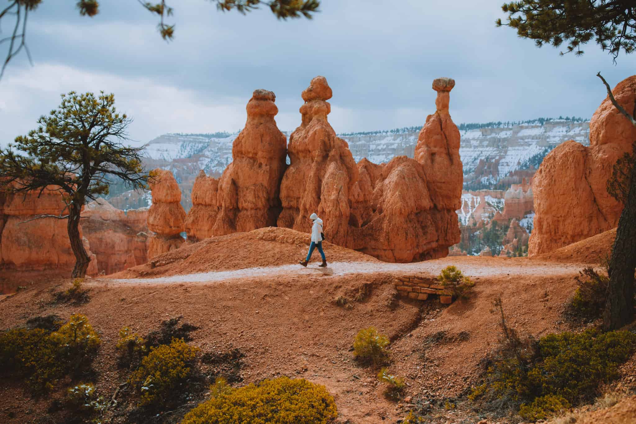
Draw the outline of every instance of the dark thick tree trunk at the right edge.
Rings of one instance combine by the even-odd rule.
[[[634,272],[636,271],[636,166],[632,168],[629,193],[618,221],[609,262],[609,287],[603,316],[606,331],[619,329],[634,316]]]

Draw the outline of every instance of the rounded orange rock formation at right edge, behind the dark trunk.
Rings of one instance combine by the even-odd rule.
[[[636,105],[636,76],[612,90],[626,110]],[[534,229],[529,256],[551,252],[618,225],[623,205],[607,193],[612,167],[632,151],[636,127],[603,100],[590,120],[590,147],[566,141],[546,156],[532,181]]]

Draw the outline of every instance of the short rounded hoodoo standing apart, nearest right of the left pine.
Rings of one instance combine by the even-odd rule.
[[[148,229],[154,234],[148,239],[148,258],[178,249],[185,241],[186,212],[181,206],[181,190],[169,170],[155,169],[150,184],[153,205],[148,211]]]

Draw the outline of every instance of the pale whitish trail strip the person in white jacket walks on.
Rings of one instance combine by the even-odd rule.
[[[216,282],[233,280],[236,278],[268,277],[276,275],[316,275],[323,274],[326,277],[337,277],[347,274],[368,274],[378,272],[391,273],[419,273],[425,272],[438,275],[439,271],[452,264],[452,260],[438,260],[434,262],[419,263],[377,263],[377,262],[334,262],[327,268],[319,268],[314,263],[307,268],[299,264],[287,264],[281,266],[267,266],[256,268],[244,268],[242,270],[210,271],[186,275],[172,275],[170,277],[156,278],[113,278],[109,282],[114,283],[194,283]],[[541,276],[541,275],[572,275],[581,270],[581,264],[462,264],[461,270],[469,277],[492,277],[501,275],[513,276]]]

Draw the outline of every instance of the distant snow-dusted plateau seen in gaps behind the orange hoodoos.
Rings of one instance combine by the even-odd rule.
[[[356,161],[385,163],[395,156],[413,158],[421,127],[339,134]],[[459,154],[464,165],[464,188],[506,189],[530,177],[551,149],[565,140],[589,145],[590,124],[581,119],[532,120],[523,123],[459,125]],[[284,132],[289,139],[290,132]],[[191,207],[190,191],[200,170],[219,177],[232,162],[232,142],[238,133],[160,135],[144,146],[147,169],[172,171],[181,187],[182,205]],[[289,163],[289,158],[287,158]],[[510,176],[513,175],[513,176]],[[116,184],[119,186],[121,184]],[[112,187],[109,200],[120,209],[149,205],[150,196]]]

